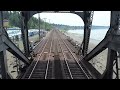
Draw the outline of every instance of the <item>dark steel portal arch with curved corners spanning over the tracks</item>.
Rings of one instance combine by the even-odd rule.
[[[25,55],[28,57],[29,56],[29,40],[28,40],[28,27],[27,23],[29,19],[36,13],[42,13],[45,11],[21,11],[22,15],[22,36],[23,36],[23,45],[24,45],[24,50],[25,50]],[[90,31],[91,31],[91,25],[92,25],[92,17],[93,14],[91,15],[91,11],[51,11],[55,13],[73,13],[81,17],[81,19],[84,22],[84,39],[83,39],[83,48],[82,48],[82,53],[83,55],[87,54],[88,50],[88,44],[89,44],[89,38],[90,38]]]

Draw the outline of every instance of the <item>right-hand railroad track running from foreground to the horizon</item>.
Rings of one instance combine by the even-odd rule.
[[[64,75],[65,78],[66,79],[91,79],[92,78],[91,75],[85,70],[83,65],[81,65],[78,62],[78,58],[75,55],[75,52],[73,51],[73,49],[71,49],[72,47],[70,47],[70,45],[68,45],[68,43],[65,42],[65,39],[63,39],[65,36],[60,35],[61,33],[59,33],[58,31],[57,33],[61,40],[61,42],[60,40],[58,41],[64,57],[63,68],[65,73]],[[62,45],[64,45],[64,47],[67,48],[67,51],[66,49],[63,48]]]

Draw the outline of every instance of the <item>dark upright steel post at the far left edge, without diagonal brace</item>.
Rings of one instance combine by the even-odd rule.
[[[3,12],[0,11],[0,74],[2,79],[11,79],[12,77],[8,73],[6,49],[8,48],[2,41],[2,35],[8,36],[7,32],[3,28]]]

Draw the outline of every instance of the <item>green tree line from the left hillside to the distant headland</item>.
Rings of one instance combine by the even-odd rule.
[[[20,13],[18,11],[4,11],[3,12],[3,19],[9,20],[9,26],[11,27],[19,27],[21,28],[20,23]],[[28,28],[29,29],[38,29],[39,27],[39,20],[35,17],[31,17],[28,21]],[[80,29],[81,26],[69,26],[69,25],[62,25],[62,24],[50,24],[48,22],[44,22],[40,19],[40,28],[51,30],[53,28],[62,29],[62,30],[69,30],[69,29]]]

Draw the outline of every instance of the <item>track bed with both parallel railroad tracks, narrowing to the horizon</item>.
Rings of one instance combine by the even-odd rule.
[[[90,79],[78,50],[58,30],[50,31],[34,49],[35,58],[23,79]]]

